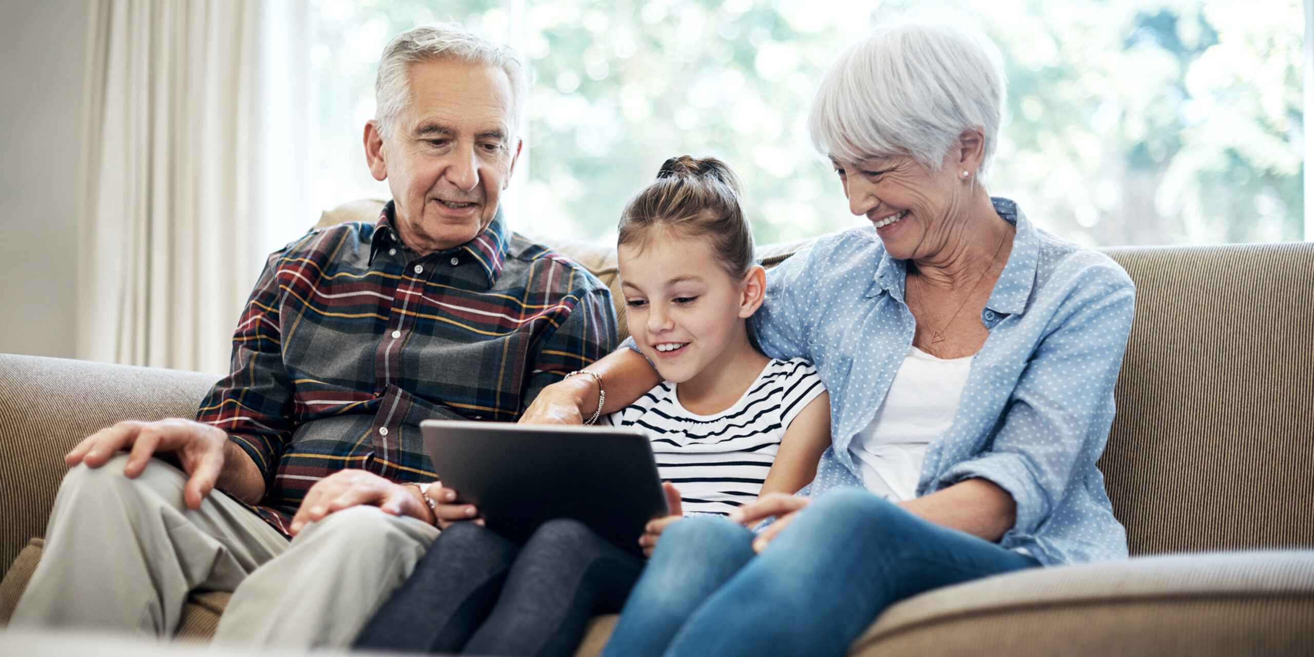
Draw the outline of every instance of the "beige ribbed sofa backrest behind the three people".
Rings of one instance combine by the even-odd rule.
[[[382,201],[319,226],[374,221]],[[611,288],[614,246],[540,238]],[[774,267],[811,240],[758,247]],[[1314,244],[1108,248],[1137,314],[1100,469],[1133,555],[1314,547]]]

